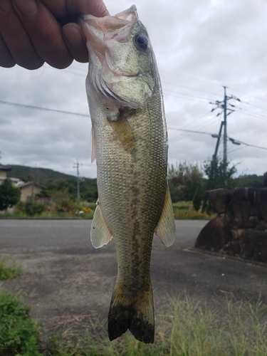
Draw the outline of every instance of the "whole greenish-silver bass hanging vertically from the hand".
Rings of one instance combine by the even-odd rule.
[[[117,253],[108,336],[115,340],[129,329],[137,340],[153,343],[153,235],[165,246],[175,239],[155,54],[135,5],[115,16],[83,15],[80,23],[89,55],[86,92],[98,184],[90,239],[95,248],[114,239]]]

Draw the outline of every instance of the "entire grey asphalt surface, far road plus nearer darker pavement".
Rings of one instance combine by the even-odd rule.
[[[98,316],[106,320],[117,274],[114,244],[95,249],[88,220],[0,219],[0,256],[26,274],[3,286],[26,292],[32,316],[44,328],[78,328]],[[165,248],[155,236],[151,277],[157,306],[186,290],[208,305],[226,295],[267,303],[267,268],[225,256],[192,251],[206,221],[176,221],[177,240]],[[74,323],[74,324],[73,324]],[[73,326],[74,325],[74,326]]]

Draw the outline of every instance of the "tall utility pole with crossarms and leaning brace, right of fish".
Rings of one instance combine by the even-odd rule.
[[[221,109],[221,112],[219,112],[217,114],[217,116],[221,115],[222,112],[224,112],[224,121],[221,122],[221,127],[219,130],[219,135],[218,135],[218,140],[216,143],[216,148],[215,148],[215,152],[214,152],[214,159],[216,159],[217,156],[217,152],[218,152],[218,148],[219,148],[219,141],[221,139],[221,130],[222,127],[224,126],[224,177],[226,177],[226,162],[227,162],[227,116],[230,115],[233,111],[235,111],[234,109],[231,108],[235,108],[235,105],[232,105],[229,102],[229,100],[234,99],[237,101],[241,101],[239,98],[236,98],[236,96],[231,95],[231,96],[227,96],[226,95],[226,86],[224,87],[224,100],[216,100],[214,103],[210,103],[212,105],[215,105],[215,108],[212,108],[211,112],[216,110],[216,109]],[[229,108],[229,106],[231,106],[231,108]]]

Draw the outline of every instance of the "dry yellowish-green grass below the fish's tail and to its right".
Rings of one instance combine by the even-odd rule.
[[[263,356],[267,355],[267,306],[260,301],[226,300],[210,309],[185,296],[171,298],[156,316],[153,345],[127,332],[110,342],[100,322],[75,345],[70,335],[53,337],[50,356]]]

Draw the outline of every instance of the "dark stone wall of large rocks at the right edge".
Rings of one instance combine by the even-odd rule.
[[[200,231],[195,247],[267,262],[267,175],[263,189],[207,192],[217,216]]]

